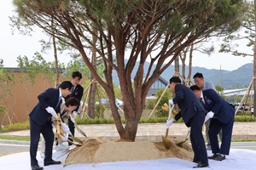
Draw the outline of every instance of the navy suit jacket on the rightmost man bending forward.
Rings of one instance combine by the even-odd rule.
[[[202,91],[203,98],[205,100],[205,109],[214,113],[213,118],[217,118],[218,121],[227,123],[231,119],[234,119],[235,110],[221,98],[216,91],[207,89]]]

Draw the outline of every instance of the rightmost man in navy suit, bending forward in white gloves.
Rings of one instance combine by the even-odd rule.
[[[207,119],[211,119],[209,126],[209,138],[213,156],[209,159],[223,161],[225,155],[230,154],[232,129],[234,124],[235,110],[212,89],[201,91],[201,88],[194,85],[190,87],[198,99],[202,99],[207,110]],[[222,143],[218,146],[218,133],[222,129]]]

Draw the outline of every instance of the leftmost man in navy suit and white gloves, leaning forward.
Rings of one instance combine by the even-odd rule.
[[[60,88],[48,88],[38,95],[38,104],[29,114],[30,122],[30,159],[32,170],[42,170],[38,166],[37,151],[40,133],[45,139],[44,166],[61,164],[61,161],[52,160],[52,147],[54,143],[54,133],[51,118],[58,118],[56,112],[61,110],[61,101],[71,92],[72,83],[69,81],[61,82]],[[64,100],[64,99],[63,99]]]

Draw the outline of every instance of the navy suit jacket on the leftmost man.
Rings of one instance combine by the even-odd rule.
[[[56,113],[60,112],[58,105],[60,99],[59,88],[48,88],[42,94],[38,95],[38,104],[32,109],[29,114],[30,118],[38,125],[43,125],[45,122],[51,120],[51,114],[45,108],[53,107]]]

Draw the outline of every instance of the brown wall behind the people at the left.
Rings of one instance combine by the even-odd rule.
[[[27,76],[27,72],[15,71],[14,75],[15,84],[4,84],[1,82],[0,94],[3,94],[3,98],[0,98],[0,103],[7,106],[5,113],[0,113],[1,126],[14,122],[26,122],[28,114],[32,111],[34,105],[38,103],[38,94],[41,94],[47,88],[55,88],[55,81],[53,80],[55,74],[48,76],[38,74],[34,84],[28,80],[24,83],[20,82],[20,76]],[[6,86],[10,88],[9,94]]]

